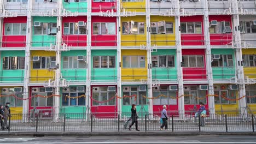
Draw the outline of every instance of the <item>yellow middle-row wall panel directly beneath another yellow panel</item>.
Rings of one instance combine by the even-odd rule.
[[[123,56],[145,56],[147,57],[146,50],[122,50],[121,59]],[[147,58],[145,60],[146,68],[123,68],[123,61],[121,61],[121,79],[122,80],[141,80],[147,79]]]

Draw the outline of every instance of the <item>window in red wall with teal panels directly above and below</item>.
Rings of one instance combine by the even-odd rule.
[[[84,22],[83,26],[78,26],[78,22],[64,23],[63,34],[85,35],[86,31],[86,22]]]

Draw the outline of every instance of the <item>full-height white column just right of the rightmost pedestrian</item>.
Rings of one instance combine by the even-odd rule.
[[[210,43],[210,32],[209,29],[209,14],[208,14],[208,1],[202,1],[203,3],[203,29],[206,46],[206,69],[207,69],[207,81],[208,81],[208,106],[210,116],[215,116],[215,104],[214,104],[214,87],[213,87],[213,75],[212,75],[212,54],[211,54],[211,43]]]

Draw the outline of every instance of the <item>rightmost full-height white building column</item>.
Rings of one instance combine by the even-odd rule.
[[[240,113],[247,115],[247,107],[246,107],[246,91],[245,91],[245,76],[243,74],[243,66],[242,66],[242,46],[241,46],[241,35],[239,28],[239,15],[238,15],[238,4],[236,0],[231,0],[231,8],[232,8],[232,19],[233,19],[233,32],[234,32],[234,46],[236,48],[236,66],[237,66],[237,82],[239,85],[239,93],[238,98],[241,98],[239,103]],[[247,117],[245,115],[245,117]]]

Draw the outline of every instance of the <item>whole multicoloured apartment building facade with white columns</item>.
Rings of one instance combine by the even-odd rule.
[[[0,2],[0,104],[97,117],[136,104],[139,115],[167,105],[184,118],[200,102],[210,114],[253,113],[255,6],[231,3]]]

